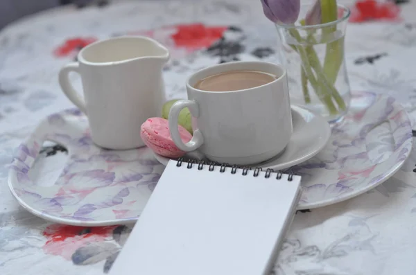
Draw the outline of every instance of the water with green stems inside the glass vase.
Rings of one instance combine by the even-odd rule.
[[[332,66],[324,66],[325,57],[335,51],[330,48],[327,52],[328,45],[333,42],[343,44],[343,37],[325,43],[291,44],[286,51],[291,103],[324,116],[329,123],[338,122],[347,113],[351,96],[344,58],[340,64],[334,65],[338,66],[338,73],[333,72]],[[306,55],[303,60],[300,52]],[[311,64],[313,57],[317,57],[315,63],[318,60],[319,64]]]

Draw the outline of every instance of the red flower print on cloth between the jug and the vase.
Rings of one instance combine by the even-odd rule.
[[[227,27],[207,27],[203,24],[177,25],[171,35],[175,45],[191,49],[207,48],[223,36]]]

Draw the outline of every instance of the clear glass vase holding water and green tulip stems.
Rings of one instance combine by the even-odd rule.
[[[337,123],[351,98],[344,55],[349,9],[338,5],[336,21],[305,26],[303,19],[312,5],[302,4],[295,24],[276,24],[279,59],[288,73],[291,104]]]

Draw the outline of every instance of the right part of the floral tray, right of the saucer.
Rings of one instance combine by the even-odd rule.
[[[325,206],[365,193],[392,176],[412,150],[409,118],[394,98],[353,93],[343,123],[327,146],[291,168],[302,175],[299,209]]]

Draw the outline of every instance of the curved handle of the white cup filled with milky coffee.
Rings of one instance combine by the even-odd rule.
[[[192,139],[188,143],[184,143],[180,138],[179,130],[177,129],[177,118],[182,109],[188,107],[189,112],[193,117],[199,116],[199,107],[198,103],[194,100],[177,100],[175,104],[172,105],[171,111],[169,112],[169,131],[171,132],[171,137],[173,142],[180,150],[184,152],[191,152],[200,147],[204,143],[204,137],[199,129],[193,130]]]

